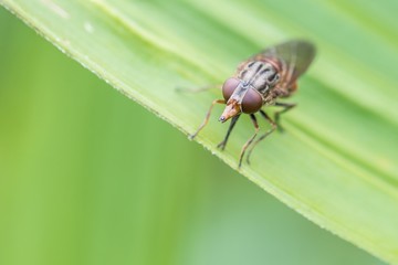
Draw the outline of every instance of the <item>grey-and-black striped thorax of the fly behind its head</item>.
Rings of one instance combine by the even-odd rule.
[[[266,95],[279,81],[279,71],[270,62],[250,61],[238,73],[238,78],[262,95]]]

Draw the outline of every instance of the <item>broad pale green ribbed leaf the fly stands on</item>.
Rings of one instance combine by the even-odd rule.
[[[396,1],[1,3],[185,134],[220,93],[177,86],[222,83],[241,60],[280,41],[315,42],[317,59],[290,99],[298,106],[283,117],[286,134],[266,139],[241,173],[322,227],[398,263]],[[243,118],[221,152],[216,146],[228,126],[217,123],[220,112],[197,139],[237,169],[253,129]]]

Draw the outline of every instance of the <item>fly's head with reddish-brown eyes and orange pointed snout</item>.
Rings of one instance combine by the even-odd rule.
[[[263,98],[260,93],[249,83],[235,77],[226,81],[222,85],[222,95],[227,106],[219,119],[221,123],[241,113],[256,113],[263,105]]]

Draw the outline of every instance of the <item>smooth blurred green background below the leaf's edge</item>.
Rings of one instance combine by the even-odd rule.
[[[0,264],[383,264],[0,9]]]

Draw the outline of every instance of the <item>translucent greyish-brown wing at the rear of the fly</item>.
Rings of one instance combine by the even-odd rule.
[[[290,41],[265,49],[254,60],[273,61],[280,67],[281,83],[293,84],[310,66],[315,46],[306,41]]]

